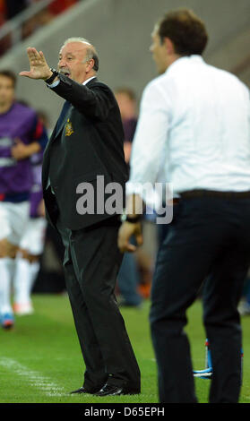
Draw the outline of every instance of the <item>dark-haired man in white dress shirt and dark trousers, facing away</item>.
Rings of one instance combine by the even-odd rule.
[[[185,335],[186,309],[203,279],[203,321],[211,341],[211,402],[237,402],[242,344],[237,304],[250,264],[249,90],[203,61],[203,24],[191,11],[164,16],[152,33],[159,77],[142,95],[127,185],[128,207],[142,202],[134,183],[154,184],[165,156],[180,196],[177,218],[159,248],[151,292],[151,335],[161,402],[196,402]],[[135,208],[134,207],[134,208]],[[120,250],[142,243],[135,209],[119,231]]]

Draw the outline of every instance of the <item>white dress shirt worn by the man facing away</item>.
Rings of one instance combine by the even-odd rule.
[[[202,56],[177,59],[143,91],[130,165],[127,193],[163,173],[174,194],[250,191],[246,85]]]

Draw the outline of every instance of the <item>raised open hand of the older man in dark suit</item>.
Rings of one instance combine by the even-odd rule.
[[[27,54],[30,61],[30,72],[20,72],[20,76],[26,76],[30,79],[43,79],[46,81],[52,72],[49,69],[45,56],[42,51],[37,51],[34,47],[27,48]]]

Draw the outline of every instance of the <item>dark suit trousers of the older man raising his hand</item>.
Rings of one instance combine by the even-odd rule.
[[[86,365],[84,387],[106,382],[140,391],[140,370],[114,289],[122,262],[119,224],[110,218],[90,228],[57,228],[65,245],[65,283]]]

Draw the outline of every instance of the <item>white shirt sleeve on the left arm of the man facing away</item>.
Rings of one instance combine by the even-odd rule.
[[[139,120],[134,134],[130,179],[126,193],[142,194],[140,185],[154,184],[166,154],[170,104],[155,83],[144,90]]]

